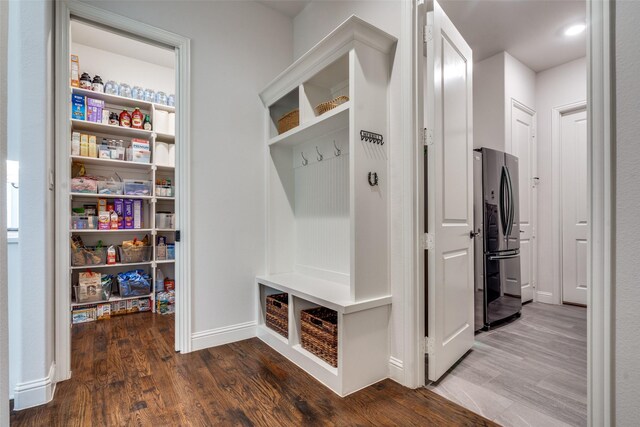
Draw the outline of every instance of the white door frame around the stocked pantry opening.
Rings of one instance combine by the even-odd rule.
[[[191,240],[189,206],[190,195],[190,39],[134,21],[133,19],[77,1],[56,2],[55,21],[55,144],[56,144],[56,188],[68,187],[69,156],[66,141],[70,138],[68,126],[69,105],[67,94],[69,85],[61,76],[69,75],[69,25],[71,17],[99,23],[129,33],[151,42],[170,46],[176,52],[176,147],[177,191],[175,206],[178,215],[177,227],[181,231],[181,242],[176,245],[176,278],[182,284],[176,293],[175,350],[182,353],[191,351]],[[56,212],[67,209],[66,199],[56,197]],[[65,217],[56,218],[56,253],[68,250],[69,224]],[[62,262],[61,262],[62,261]],[[69,301],[69,267],[64,260],[55,260],[55,380],[71,378],[71,309]]]

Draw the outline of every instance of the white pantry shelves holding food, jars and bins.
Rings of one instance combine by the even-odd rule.
[[[69,95],[84,95],[87,98],[100,99],[105,102],[105,108],[110,111],[120,112],[122,109],[127,108],[133,110],[138,107],[144,114],[149,114],[152,117],[152,124],[156,123],[157,111],[175,112],[175,108],[166,105],[160,105],[156,103],[134,100],[118,95],[110,95],[106,93],[93,92],[91,90],[80,89],[76,87],[69,88]],[[158,133],[154,130],[147,131],[141,129],[132,129],[116,125],[108,125],[102,123],[94,123],[85,120],[69,119],[69,135],[72,132],[86,133],[90,135],[96,135],[98,144],[103,137],[116,138],[128,141],[132,138],[139,138],[149,141],[149,148],[151,151],[150,163],[136,163],[132,161],[93,158],[85,156],[71,155],[71,142],[68,141],[65,149],[69,153],[69,170],[73,163],[82,163],[85,166],[87,175],[95,176],[119,176],[123,179],[133,178],[145,181],[151,181],[152,194],[149,196],[127,196],[127,195],[111,195],[111,194],[87,194],[87,193],[73,193],[69,191],[69,187],[66,187],[66,197],[69,199],[69,205],[66,212],[60,212],[68,218],[69,225],[69,237],[73,235],[79,235],[87,245],[94,245],[98,241],[102,241],[105,246],[121,244],[123,240],[130,240],[134,237],[142,239],[145,235],[151,239],[153,246],[152,256],[150,261],[136,262],[136,263],[117,263],[114,265],[92,265],[92,266],[72,266],[70,250],[67,253],[59,254],[65,261],[65,264],[69,267],[68,283],[69,283],[69,301],[71,310],[79,307],[86,307],[92,304],[104,304],[116,301],[135,300],[149,298],[152,302],[152,310],[155,311],[155,295],[156,295],[156,278],[157,271],[160,265],[170,268],[175,273],[175,259],[171,260],[158,260],[157,259],[157,245],[156,239],[158,235],[163,235],[167,238],[168,243],[175,243],[175,229],[160,229],[156,227],[155,213],[158,211],[168,211],[175,213],[175,196],[158,196],[156,191],[156,178],[170,178],[172,184],[175,186],[175,166],[173,164],[158,164],[156,156],[156,142],[162,141],[170,144],[175,144],[175,136],[165,133]],[[117,175],[116,175],[117,174]],[[175,188],[175,187],[174,187]],[[71,209],[76,206],[82,206],[84,203],[96,204],[98,199],[104,198],[107,200],[113,199],[138,199],[143,201],[144,205],[144,227],[140,229],[118,229],[118,230],[98,230],[98,229],[73,229],[71,227]],[[133,297],[120,297],[118,295],[112,295],[109,301],[102,301],[98,303],[90,302],[77,302],[73,299],[72,286],[77,283],[78,273],[82,271],[99,271],[108,274],[117,274],[123,271],[129,271],[133,269],[143,269],[152,277],[152,290],[148,295],[133,296]],[[172,274],[173,275],[173,274]]]

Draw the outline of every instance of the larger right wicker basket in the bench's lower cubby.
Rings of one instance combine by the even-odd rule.
[[[325,307],[300,312],[302,348],[338,367],[338,313]]]

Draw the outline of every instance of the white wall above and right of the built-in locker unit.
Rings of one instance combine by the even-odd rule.
[[[318,43],[324,36],[340,25],[351,15],[357,15],[365,21],[379,27],[383,31],[399,39],[393,59],[389,91],[390,135],[388,140],[390,160],[390,253],[391,253],[391,291],[393,294],[391,310],[391,345],[390,356],[395,360],[395,368],[391,376],[399,382],[404,382],[402,368],[404,357],[403,322],[404,312],[404,281],[406,260],[411,254],[403,253],[403,145],[406,142],[401,131],[401,82],[400,74],[410,71],[401,71],[399,52],[403,43],[401,39],[401,1],[321,1],[310,3],[293,20],[294,57],[298,58],[307,50]],[[408,102],[408,101],[407,101]],[[386,138],[386,137],[385,137]],[[408,141],[410,143],[410,141]],[[406,172],[406,171],[405,171]]]

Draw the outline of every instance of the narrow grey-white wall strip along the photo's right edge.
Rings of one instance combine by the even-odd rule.
[[[615,206],[615,422],[640,420],[640,2],[615,3],[616,34],[616,206]]]

